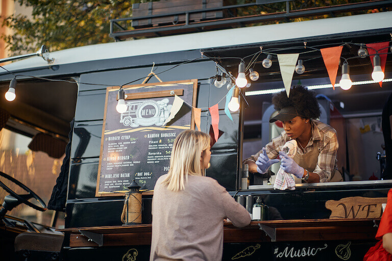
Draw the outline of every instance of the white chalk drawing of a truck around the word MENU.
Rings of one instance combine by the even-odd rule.
[[[121,113],[120,123],[125,126],[162,126],[169,117],[171,105],[169,99],[143,100],[127,102],[127,111]]]

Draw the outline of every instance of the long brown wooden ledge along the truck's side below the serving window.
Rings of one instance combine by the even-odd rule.
[[[252,221],[237,228],[224,223],[224,242],[271,242],[314,240],[371,240],[380,219],[309,219]],[[260,229],[263,227],[266,232]],[[80,227],[58,229],[70,234],[70,247],[124,246],[151,244],[151,224],[131,226]],[[274,234],[271,237],[271,234]],[[97,243],[95,243],[97,242]]]

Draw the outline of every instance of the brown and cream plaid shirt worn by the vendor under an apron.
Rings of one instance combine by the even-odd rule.
[[[336,151],[339,147],[337,142],[336,131],[333,127],[322,123],[318,120],[311,120],[312,122],[312,137],[305,147],[304,151],[301,149],[297,150],[300,155],[306,154],[307,152],[317,149],[320,151],[317,158],[317,165],[313,173],[317,173],[320,176],[320,182],[328,182],[331,179],[331,172],[337,169]],[[278,158],[279,151],[282,150],[283,145],[291,138],[286,135],[283,131],[282,134],[272,139],[267,145],[265,150],[269,159]],[[249,160],[257,161],[259,154],[262,150],[252,155]]]

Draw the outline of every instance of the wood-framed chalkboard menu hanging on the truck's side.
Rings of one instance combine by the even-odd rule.
[[[175,138],[194,128],[188,105],[195,107],[197,86],[197,80],[124,86],[125,113],[116,111],[119,88],[107,88],[96,196],[124,194],[132,179],[141,190],[154,189],[168,171]],[[175,95],[184,100],[183,106],[165,123]]]

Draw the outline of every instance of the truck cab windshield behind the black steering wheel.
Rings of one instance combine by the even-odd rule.
[[[60,173],[64,156],[54,159],[44,152],[32,151],[28,148],[31,140],[29,137],[3,128],[0,131],[0,171],[22,182],[47,204]],[[0,179],[17,194],[26,194],[26,191],[7,179],[3,177]],[[3,204],[7,195],[8,193],[0,188],[0,204]],[[22,203],[7,212],[7,215],[50,226],[53,211],[40,212]],[[60,219],[57,227],[64,226],[64,221]]]

